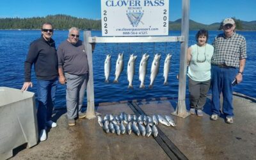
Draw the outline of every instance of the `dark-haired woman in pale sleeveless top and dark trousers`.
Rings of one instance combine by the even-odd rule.
[[[203,116],[203,107],[211,85],[211,58],[214,51],[207,44],[208,31],[200,29],[196,33],[197,44],[188,49],[188,77],[190,113]]]

